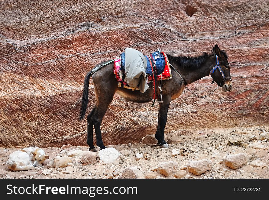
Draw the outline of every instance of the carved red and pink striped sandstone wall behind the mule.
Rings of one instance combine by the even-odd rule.
[[[84,76],[127,47],[192,56],[216,43],[227,50],[233,89],[205,100],[184,90],[171,102],[166,132],[269,123],[267,1],[6,0],[0,8],[2,147],[87,145],[87,122],[78,121]],[[207,93],[216,86],[210,82],[190,88]],[[94,100],[91,85],[88,111]],[[154,133],[157,107],[115,95],[101,126],[104,143]]]

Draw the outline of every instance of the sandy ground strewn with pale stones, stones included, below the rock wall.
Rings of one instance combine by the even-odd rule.
[[[140,144],[96,148],[97,153],[80,146],[48,147],[43,149],[50,158],[41,168],[22,172],[5,165],[21,147],[0,148],[0,178],[269,178],[268,130],[174,130],[165,134],[169,148],[144,144],[154,142],[150,135]]]

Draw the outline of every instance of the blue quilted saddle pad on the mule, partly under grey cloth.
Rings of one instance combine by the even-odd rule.
[[[164,66],[165,66],[164,56],[158,51],[152,53],[151,55],[153,56],[153,59],[155,62],[155,66],[157,69],[157,75],[160,75],[164,71]],[[120,58],[120,60],[121,60],[120,70],[125,71],[125,53],[123,52],[122,54],[120,54],[120,57],[121,57]],[[145,57],[147,59],[146,74],[152,76],[152,70],[151,70],[149,58],[148,58],[148,56],[145,56]]]

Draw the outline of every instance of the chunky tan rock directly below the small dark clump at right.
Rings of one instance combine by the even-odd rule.
[[[230,154],[224,158],[225,165],[231,169],[237,169],[246,163],[246,154]]]

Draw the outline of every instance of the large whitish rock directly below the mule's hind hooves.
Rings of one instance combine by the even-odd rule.
[[[99,151],[99,159],[101,164],[108,164],[116,162],[118,158],[121,157],[121,154],[118,150],[113,147],[105,148]]]

